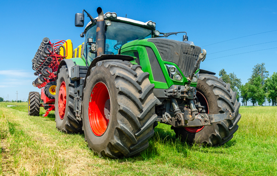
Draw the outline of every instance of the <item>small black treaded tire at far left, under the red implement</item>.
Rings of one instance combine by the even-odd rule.
[[[28,115],[39,116],[40,97],[38,92],[29,93]]]

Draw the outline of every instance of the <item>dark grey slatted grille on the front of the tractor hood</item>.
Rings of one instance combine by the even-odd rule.
[[[185,77],[193,71],[198,55],[201,53],[200,47],[176,40],[152,38],[147,41],[156,45],[164,61],[177,64]]]

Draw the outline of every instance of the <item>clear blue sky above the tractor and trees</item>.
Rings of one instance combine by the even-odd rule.
[[[97,7],[119,17],[152,20],[160,32],[186,31],[189,41],[207,51],[200,67],[217,75],[224,68],[245,83],[254,65],[262,62],[270,75],[277,72],[276,1],[1,1],[0,97],[6,100],[9,94],[9,100],[16,100],[18,91],[18,99],[27,100],[30,91],[40,92],[32,85],[36,76],[31,60],[42,39],[71,39],[76,48],[83,43],[84,28],[74,26],[75,13],[85,9],[97,17]],[[182,34],[168,38],[181,41]],[[230,40],[234,38],[239,39]],[[233,50],[224,51],[228,49]],[[249,53],[239,54],[244,52]]]

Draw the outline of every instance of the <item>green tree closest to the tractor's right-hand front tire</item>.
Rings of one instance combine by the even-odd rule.
[[[219,71],[219,76],[226,83],[230,83],[230,87],[234,92],[237,92],[237,100],[239,101],[239,87],[241,86],[241,79],[237,78],[237,75],[233,73],[227,74],[225,69]]]

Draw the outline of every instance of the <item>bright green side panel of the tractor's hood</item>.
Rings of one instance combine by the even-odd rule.
[[[166,82],[159,82],[159,81],[155,81],[154,77],[153,77],[153,71],[151,69],[151,65],[150,65],[150,60],[148,58],[148,54],[146,51],[146,47],[151,47],[158,59],[158,62],[161,66],[162,72],[165,76]],[[132,42],[126,43],[125,45],[123,45],[120,49],[120,53],[122,55],[129,55],[134,57],[133,51],[137,51],[138,55],[140,57],[140,65],[142,66],[142,70],[144,72],[149,72],[149,80],[151,83],[155,84],[155,88],[156,89],[169,89],[169,87],[171,85],[185,85],[187,84],[187,78],[183,75],[182,71],[179,69],[178,65],[176,65],[173,62],[168,62],[168,61],[164,61],[162,60],[162,57],[157,49],[157,47],[155,46],[154,43],[152,42],[148,42],[147,39],[144,40],[134,40]],[[132,63],[135,63],[135,61],[131,61]],[[168,71],[167,71],[167,67],[165,64],[170,64],[170,65],[174,65],[179,72],[181,73],[183,79],[180,81],[176,81],[176,80],[172,80],[169,77]],[[196,71],[197,72],[197,71]],[[197,83],[191,83],[190,86],[194,86],[196,87]]]

